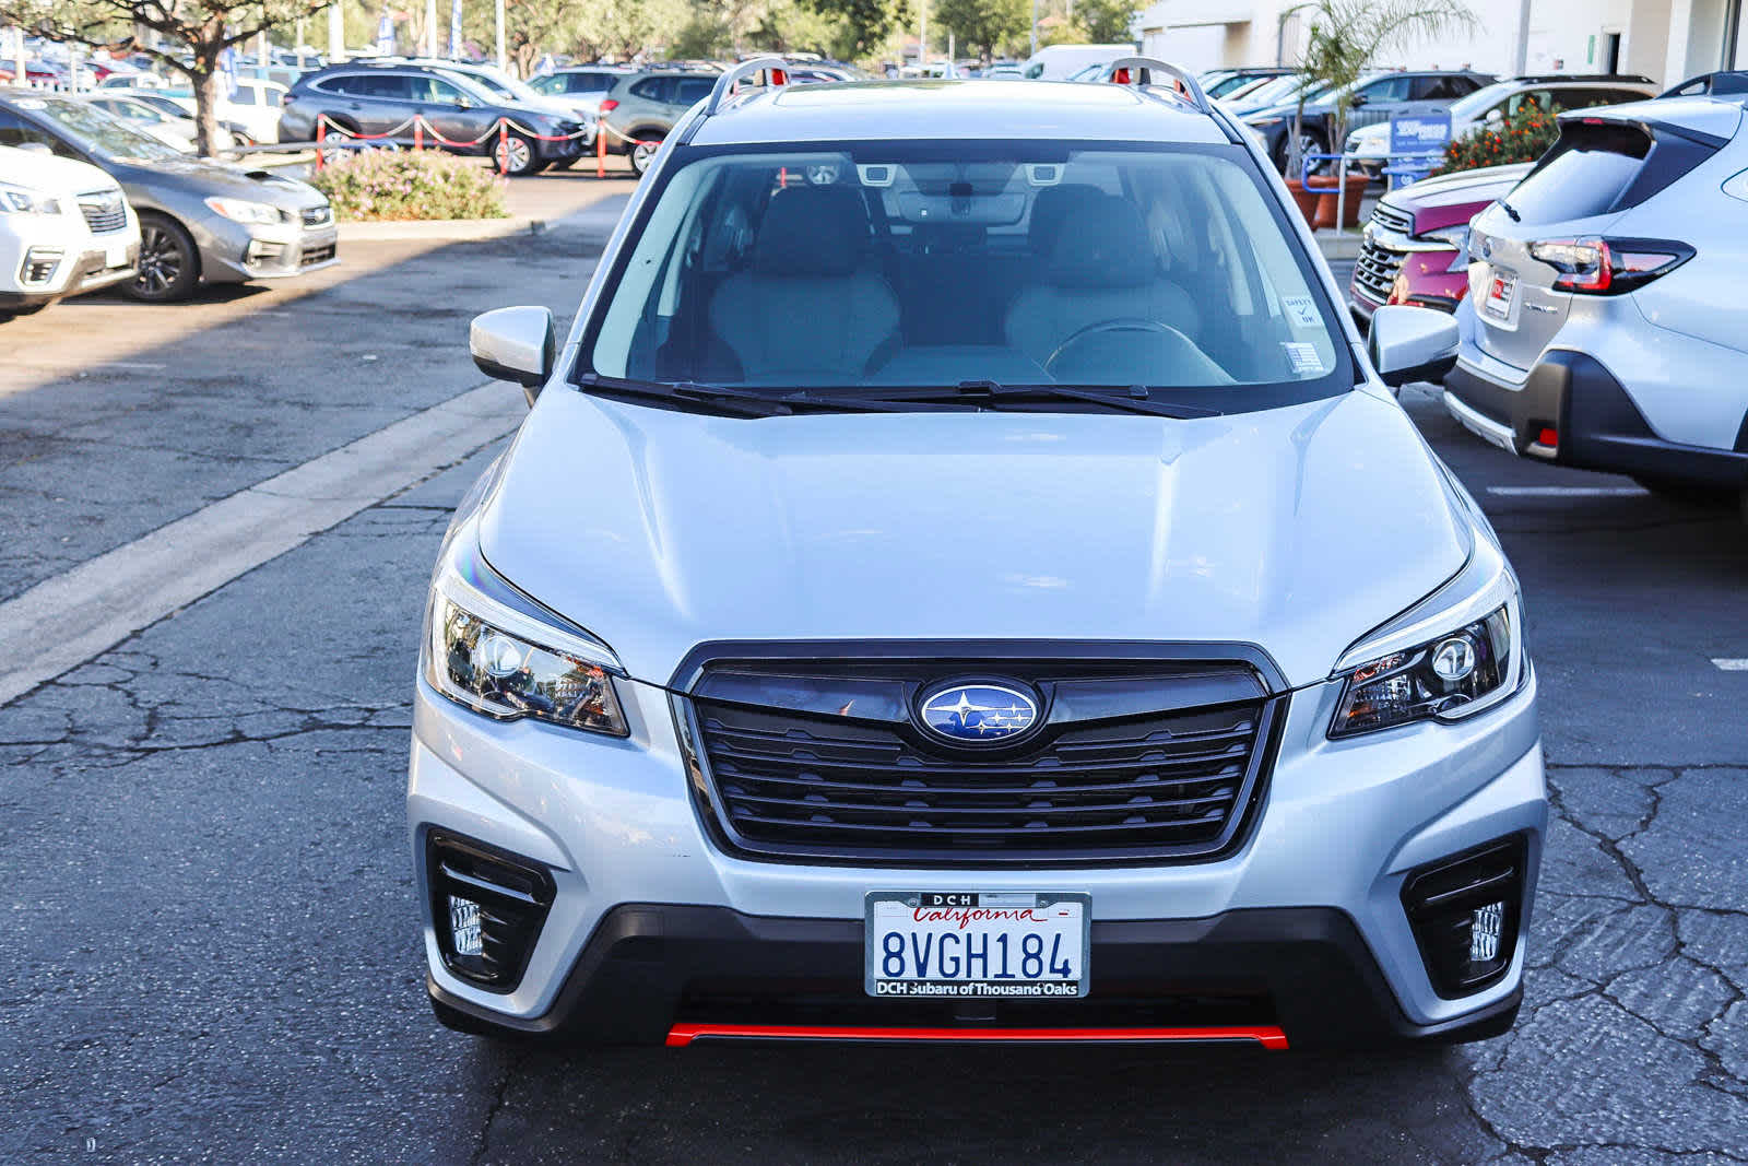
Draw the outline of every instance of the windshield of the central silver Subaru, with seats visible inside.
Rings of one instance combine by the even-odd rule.
[[[1344,392],[1341,330],[1245,163],[1154,143],[711,150],[652,198],[580,371],[1173,386],[1222,413]]]

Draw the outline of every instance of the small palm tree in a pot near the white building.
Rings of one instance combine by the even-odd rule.
[[[1339,145],[1348,140],[1353,86],[1379,54],[1477,24],[1463,0],[1314,0],[1309,12],[1311,33],[1299,61],[1306,84],[1299,86],[1294,136],[1287,143],[1288,177],[1299,173],[1306,96],[1320,82],[1335,98],[1330,143]]]

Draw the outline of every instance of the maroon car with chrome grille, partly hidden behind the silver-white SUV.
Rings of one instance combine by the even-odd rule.
[[[1468,294],[1468,220],[1505,198],[1531,163],[1461,170],[1390,191],[1360,239],[1348,308],[1370,320],[1384,304],[1456,311]]]

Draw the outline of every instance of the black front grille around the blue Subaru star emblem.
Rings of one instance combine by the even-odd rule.
[[[682,710],[703,746],[694,781],[720,841],[752,857],[989,865],[1220,853],[1255,799],[1278,701],[1243,664],[1124,668],[713,668]],[[918,694],[970,675],[1035,685],[1045,727],[1012,748],[937,745],[911,717]]]

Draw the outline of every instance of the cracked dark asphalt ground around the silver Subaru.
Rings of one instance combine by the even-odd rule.
[[[479,390],[468,316],[568,320],[600,243],[362,243],[304,283],[5,325],[0,601]],[[575,1052],[439,1028],[407,708],[437,540],[516,423],[489,393],[477,442],[0,706],[0,1161],[1748,1159],[1748,528],[1512,460],[1425,386],[1405,404],[1507,542],[1543,685],[1557,820],[1509,1037]]]

